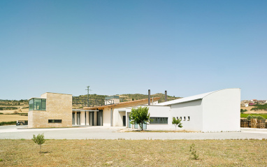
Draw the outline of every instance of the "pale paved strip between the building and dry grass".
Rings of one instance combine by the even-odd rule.
[[[26,129],[26,126],[0,126],[0,139],[31,139],[33,134],[44,133],[48,139],[267,139],[267,129],[241,128],[241,132],[219,133],[139,133],[120,132],[124,127],[87,126],[74,128]]]

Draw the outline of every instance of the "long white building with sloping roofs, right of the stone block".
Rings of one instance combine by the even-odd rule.
[[[182,129],[187,131],[240,131],[240,89],[222,89],[164,103],[157,103],[158,100],[152,99],[150,106],[148,99],[143,99],[87,108],[84,113],[88,111],[89,116],[85,114],[80,125],[138,129],[138,125],[130,124],[131,108],[147,106],[153,122],[145,125],[145,129],[175,129],[172,119],[178,117],[182,119]]]

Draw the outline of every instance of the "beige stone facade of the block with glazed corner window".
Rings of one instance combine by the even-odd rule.
[[[41,99],[46,99],[46,110],[29,110],[29,128],[72,126],[71,94],[45,93]],[[61,123],[54,123],[54,120],[61,120]]]

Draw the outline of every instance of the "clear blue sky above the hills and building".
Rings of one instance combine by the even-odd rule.
[[[267,1],[0,1],[0,99],[45,92],[267,100]]]

